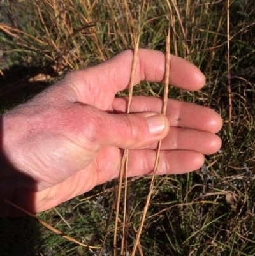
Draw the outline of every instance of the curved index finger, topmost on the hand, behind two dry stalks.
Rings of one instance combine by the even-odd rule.
[[[107,105],[106,96],[112,101],[118,91],[129,87],[133,51],[126,50],[104,63],[75,72],[75,91],[81,102],[100,107]],[[145,80],[148,82],[164,81],[165,54],[156,50],[139,49],[136,63],[135,84]],[[80,76],[80,79],[77,79]],[[194,91],[205,84],[205,76],[188,61],[171,55],[170,57],[170,84],[180,89]],[[89,89],[89,91],[88,91]],[[91,93],[88,102],[87,95]],[[100,102],[100,103],[99,103]],[[98,103],[98,104],[97,104]],[[104,108],[103,108],[104,109]]]

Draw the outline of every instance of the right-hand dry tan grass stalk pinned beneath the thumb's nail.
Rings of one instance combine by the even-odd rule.
[[[163,107],[162,107],[162,114],[164,114],[164,115],[166,114],[166,107],[167,107],[167,102],[168,102],[169,71],[170,71],[169,67],[170,67],[170,27],[168,27],[168,31],[166,34],[166,64],[165,64],[165,73],[164,73],[164,97],[163,97]],[[149,193],[147,196],[147,200],[146,200],[145,207],[143,210],[142,220],[140,222],[138,233],[136,235],[135,245],[133,247],[133,252],[132,252],[131,256],[135,256],[136,248],[138,246],[138,242],[139,242],[139,239],[140,239],[140,236],[142,233],[142,229],[143,229],[143,223],[145,221],[146,213],[147,213],[147,210],[149,207],[150,197],[152,195],[153,188],[154,188],[157,167],[159,165],[159,154],[160,154],[160,150],[161,150],[161,144],[162,144],[162,140],[159,141],[159,144],[157,146],[157,155],[156,155],[156,160],[154,163],[154,170],[153,170],[153,174],[152,174],[152,180],[150,183],[150,190],[149,190]]]

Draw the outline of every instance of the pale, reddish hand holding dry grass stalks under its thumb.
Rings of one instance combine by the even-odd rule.
[[[157,141],[163,139],[157,174],[182,174],[203,165],[221,147],[215,133],[222,119],[212,109],[136,96],[124,114],[132,51],[69,73],[33,100],[1,116],[0,196],[32,213],[45,211],[119,177],[122,149],[129,150],[129,176],[151,174]],[[140,49],[135,84],[164,81],[164,54]],[[170,84],[195,91],[205,84],[193,64],[170,59]],[[3,164],[2,164],[3,163]],[[17,211],[3,202],[0,216]]]

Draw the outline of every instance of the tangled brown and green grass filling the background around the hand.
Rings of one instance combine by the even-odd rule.
[[[171,53],[205,73],[207,84],[203,89],[187,92],[172,88],[169,98],[205,105],[221,114],[221,151],[206,156],[205,165],[196,172],[156,177],[140,237],[143,255],[255,255],[255,4],[230,2],[228,61],[227,3],[0,3],[1,113],[71,70],[101,63],[132,48],[138,31],[140,47],[164,52],[168,22]],[[142,82],[134,87],[134,94],[163,96],[163,85]],[[117,96],[124,95],[126,91]],[[150,179],[129,180],[130,252]],[[115,215],[115,185],[110,181],[37,216],[83,243],[100,246],[108,220]],[[108,223],[110,231],[102,255],[112,255],[113,219]],[[27,218],[0,221],[0,255],[98,255],[96,250],[66,241]]]

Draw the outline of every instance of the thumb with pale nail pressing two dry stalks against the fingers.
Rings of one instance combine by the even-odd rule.
[[[163,115],[155,112],[136,114],[108,114],[96,118],[94,138],[99,147],[115,146],[120,148],[138,149],[163,139],[170,123]],[[101,114],[103,114],[101,113]],[[95,120],[94,120],[95,121]]]

